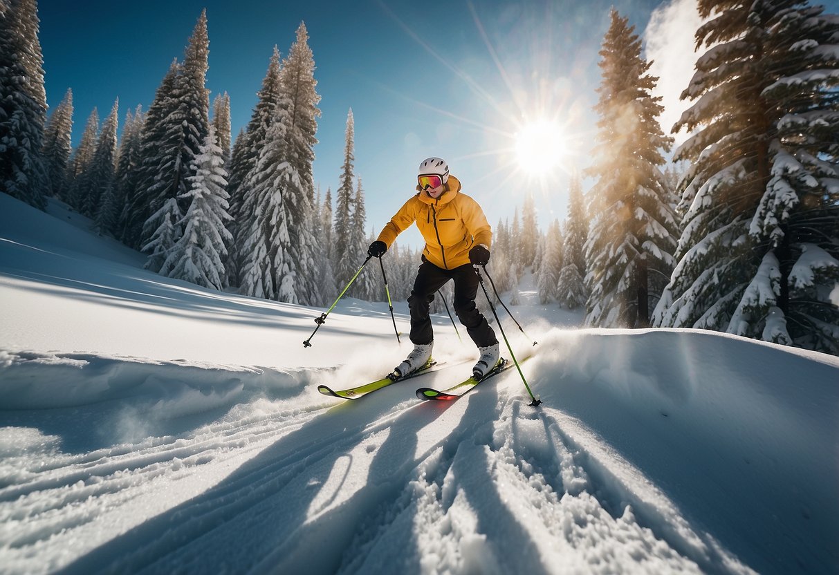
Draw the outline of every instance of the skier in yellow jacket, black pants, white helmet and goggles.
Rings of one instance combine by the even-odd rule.
[[[479,280],[474,266],[489,262],[492,229],[481,206],[461,193],[460,181],[449,174],[444,160],[425,159],[417,181],[419,193],[393,215],[367,250],[368,256],[383,256],[396,236],[414,222],[425,239],[422,264],[408,298],[414,350],[393,371],[396,376],[406,376],[430,360],[434,347],[430,303],[435,292],[453,279],[457,318],[481,354],[472,368],[473,375],[480,378],[498,364],[498,339],[475,304]]]

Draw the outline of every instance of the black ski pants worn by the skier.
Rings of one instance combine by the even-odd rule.
[[[495,332],[475,305],[478,277],[472,264],[446,270],[426,262],[425,257],[414,280],[414,290],[408,298],[408,307],[411,310],[411,341],[414,344],[430,344],[434,339],[429,317],[430,303],[434,301],[437,290],[452,279],[455,281],[455,313],[457,319],[466,327],[466,333],[478,347],[497,344]]]

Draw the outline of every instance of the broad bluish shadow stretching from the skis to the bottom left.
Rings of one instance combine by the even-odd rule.
[[[406,475],[427,456],[429,449],[415,453],[418,433],[446,412],[446,404],[423,403],[377,426],[411,389],[393,386],[352,406],[332,407],[210,490],[107,541],[60,572],[335,572],[364,514],[399,495]],[[461,421],[470,417],[469,411]],[[374,432],[387,429],[388,437],[373,456],[367,482],[347,500],[310,518],[320,486],[339,458],[350,458],[352,464],[353,449],[371,427]],[[445,441],[440,438],[435,445]],[[320,504],[329,505],[328,500]]]

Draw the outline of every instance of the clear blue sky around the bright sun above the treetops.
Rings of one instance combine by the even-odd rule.
[[[118,96],[120,122],[128,107],[148,108],[170,62],[182,58],[202,8],[210,34],[207,87],[211,100],[230,94],[235,137],[251,116],[274,44],[284,56],[304,21],[322,97],[314,165],[322,193],[335,193],[352,107],[367,231],[380,230],[414,193],[416,168],[430,155],[446,158],[493,226],[512,220],[532,191],[545,228],[565,217],[571,167],[588,163],[597,50],[609,8],[643,34],[659,4],[42,0],[39,17],[47,100],[56,106],[73,89],[74,142],[93,106],[104,117]],[[539,117],[558,123],[566,153],[536,175],[517,161],[514,135]],[[419,234],[402,239],[420,244]]]

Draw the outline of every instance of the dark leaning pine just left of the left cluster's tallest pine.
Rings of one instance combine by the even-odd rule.
[[[164,174],[172,174],[169,158],[176,155],[175,148],[180,142],[180,127],[170,122],[170,119],[175,117],[178,106],[175,100],[175,83],[179,73],[180,64],[178,60],[173,60],[154,93],[154,101],[145,115],[140,133],[136,185],[129,189],[126,197],[127,217],[122,226],[121,238],[122,243],[134,248],[143,246],[143,225],[154,214],[154,185]]]

